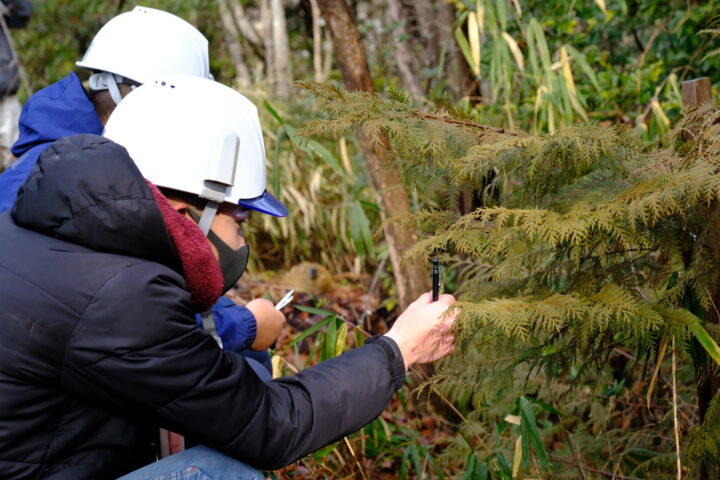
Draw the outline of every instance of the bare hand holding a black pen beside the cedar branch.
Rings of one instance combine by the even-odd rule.
[[[388,337],[400,347],[405,369],[420,363],[439,360],[455,349],[452,324],[457,310],[443,315],[455,303],[452,295],[440,295],[432,301],[432,292],[423,293],[398,317]]]

